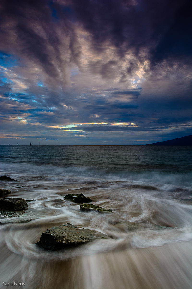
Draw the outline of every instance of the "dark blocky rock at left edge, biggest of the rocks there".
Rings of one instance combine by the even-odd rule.
[[[0,199],[0,209],[18,211],[28,207],[26,200],[20,198]]]

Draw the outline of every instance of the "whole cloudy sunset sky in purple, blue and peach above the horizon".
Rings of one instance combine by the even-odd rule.
[[[191,134],[190,0],[1,0],[1,144]]]

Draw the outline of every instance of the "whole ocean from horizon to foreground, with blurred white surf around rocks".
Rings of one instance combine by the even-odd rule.
[[[1,175],[20,183],[0,187],[11,190],[6,197],[34,200],[21,215],[35,219],[0,226],[0,288],[191,289],[191,202],[180,201],[192,198],[191,152],[190,146],[1,145]],[[79,204],[63,201],[69,193],[113,213],[80,212]],[[5,219],[1,212],[0,223]],[[131,230],[128,222],[140,226]],[[56,252],[35,245],[47,228],[66,223],[109,239]]]

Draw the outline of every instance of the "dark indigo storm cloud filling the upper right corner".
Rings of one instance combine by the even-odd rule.
[[[72,0],[77,18],[93,38],[94,49],[103,49],[109,39],[123,57],[132,50],[139,57],[141,48],[150,48],[154,63],[168,56],[191,54],[191,1]],[[127,70],[131,73],[135,62]]]

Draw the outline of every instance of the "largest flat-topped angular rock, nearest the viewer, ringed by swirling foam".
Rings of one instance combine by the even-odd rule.
[[[36,244],[46,251],[57,251],[84,244],[96,238],[109,238],[94,230],[83,229],[70,223],[47,229]]]

